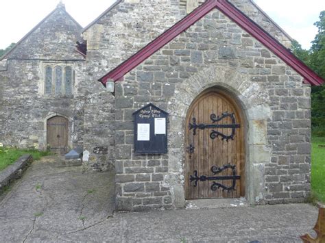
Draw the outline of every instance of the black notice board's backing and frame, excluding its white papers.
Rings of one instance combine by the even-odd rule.
[[[141,112],[144,111],[144,112]],[[149,103],[132,114],[134,116],[134,153],[163,154],[167,149],[168,113]],[[165,118],[165,134],[155,134],[155,118]],[[138,124],[149,124],[149,141],[138,141]]]

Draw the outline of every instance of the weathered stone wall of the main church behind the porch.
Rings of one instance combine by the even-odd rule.
[[[281,36],[250,1],[234,0],[232,3],[272,35]],[[185,6],[180,5],[178,0],[121,1],[84,30],[83,37],[88,43],[84,60],[75,51],[81,27],[65,11],[64,5],[59,4],[19,42],[8,59],[1,62],[1,142],[46,149],[46,120],[59,114],[70,121],[69,146],[81,144],[90,153],[84,165],[95,170],[112,168],[115,164],[115,97],[106,92],[97,79],[154,40],[185,14]],[[75,83],[72,96],[43,96],[43,66],[46,62],[73,65]],[[6,69],[8,71],[3,71]],[[168,88],[154,87],[156,90],[150,92],[158,96],[169,92]],[[173,86],[169,90],[172,91]],[[132,92],[131,87],[125,94],[132,95]],[[136,102],[147,100],[145,95],[134,99],[139,100]],[[24,112],[26,110],[28,112]],[[117,118],[119,116],[118,110]]]

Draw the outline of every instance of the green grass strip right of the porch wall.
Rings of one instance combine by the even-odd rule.
[[[325,202],[325,137],[312,138],[311,151],[311,188],[313,196],[319,201]]]

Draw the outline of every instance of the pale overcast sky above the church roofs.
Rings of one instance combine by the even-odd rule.
[[[63,0],[67,12],[85,27],[115,0]],[[309,49],[317,34],[313,25],[325,10],[325,0],[255,0],[289,36],[298,40],[302,48]],[[306,2],[308,4],[306,4]],[[0,49],[18,42],[49,14],[59,0],[1,0]]]

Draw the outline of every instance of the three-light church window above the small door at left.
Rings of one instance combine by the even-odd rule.
[[[47,95],[73,94],[73,69],[69,65],[45,66],[44,93]]]

